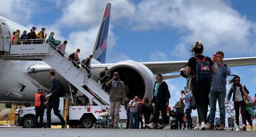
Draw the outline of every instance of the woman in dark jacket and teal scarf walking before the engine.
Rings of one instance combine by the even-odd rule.
[[[151,103],[155,103],[154,111],[153,111],[153,117],[149,124],[146,124],[146,127],[153,128],[155,123],[158,122],[158,119],[160,117],[160,111],[163,117],[163,125],[165,127],[168,127],[169,119],[166,114],[166,108],[169,105],[169,98],[171,98],[171,95],[168,90],[168,85],[165,81],[163,81],[163,76],[161,74],[158,74],[156,76],[156,82],[153,88],[153,98],[150,101]]]

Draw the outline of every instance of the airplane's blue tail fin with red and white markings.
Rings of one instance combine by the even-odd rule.
[[[100,63],[105,63],[105,60],[106,60],[106,47],[108,42],[110,9],[111,9],[111,4],[107,3],[103,16],[101,18],[98,35],[96,37],[93,50],[92,50],[93,58],[98,60]]]

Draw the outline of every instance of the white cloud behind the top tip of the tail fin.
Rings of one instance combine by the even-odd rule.
[[[107,2],[111,2],[111,22],[115,22],[120,18],[130,17],[134,15],[134,5],[127,0],[90,0],[90,1],[68,1],[67,7],[63,10],[60,23],[66,26],[94,26],[100,23],[103,9]]]

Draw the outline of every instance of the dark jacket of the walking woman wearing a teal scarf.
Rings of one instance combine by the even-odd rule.
[[[169,98],[171,98],[171,95],[169,93],[168,90],[168,85],[166,84],[165,81],[163,81],[163,83],[160,85],[160,87],[158,88],[158,93],[157,96],[154,96],[155,93],[155,87],[156,87],[156,82],[154,85],[154,89],[153,89],[153,99],[151,100],[152,103],[156,103],[156,102],[161,102],[161,103],[169,103]]]

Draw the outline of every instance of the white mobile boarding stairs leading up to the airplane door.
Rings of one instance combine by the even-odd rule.
[[[1,58],[4,60],[45,61],[89,100],[98,105],[109,105],[109,95],[101,89],[101,85],[95,80],[89,79],[85,69],[75,67],[74,65],[78,66],[79,64],[71,61],[67,54],[62,57],[51,43],[42,41],[40,44],[33,44],[32,42],[32,44],[11,45],[10,53],[1,55]],[[91,72],[95,73],[92,70]]]

